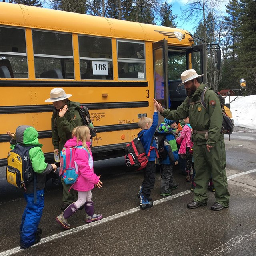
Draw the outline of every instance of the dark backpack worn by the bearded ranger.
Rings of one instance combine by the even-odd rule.
[[[201,94],[201,103],[202,103],[202,106],[203,108],[207,111],[206,109],[206,103],[205,103],[205,100],[204,100],[204,95],[205,95],[205,92],[208,90],[208,89],[211,89],[210,87],[204,87],[204,90],[202,91],[202,94]],[[215,91],[214,91],[215,92]],[[230,119],[230,117],[226,114],[225,110],[224,110],[224,103],[225,103],[225,98],[219,93],[219,92],[215,92],[218,97],[219,97],[219,100],[220,100],[220,106],[221,106],[221,109],[222,109],[222,133],[223,134],[232,134],[233,132],[233,129],[234,129],[234,124],[232,122],[232,120]],[[193,104],[194,102],[190,102],[190,98],[188,98],[188,105],[191,105]]]

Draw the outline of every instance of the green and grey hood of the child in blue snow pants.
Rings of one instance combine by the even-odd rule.
[[[42,148],[42,144],[38,141],[37,130],[28,125],[20,125],[16,129],[16,142],[26,146],[38,146]]]

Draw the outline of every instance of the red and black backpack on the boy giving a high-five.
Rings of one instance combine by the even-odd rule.
[[[145,168],[148,163],[150,152],[153,149],[152,143],[154,138],[152,138],[150,150],[148,151],[148,154],[146,154],[144,146],[140,141],[140,137],[142,137],[142,135],[143,133],[134,138],[129,144],[126,145],[124,149],[125,162],[131,171],[138,171]]]

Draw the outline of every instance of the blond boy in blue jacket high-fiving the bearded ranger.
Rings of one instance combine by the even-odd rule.
[[[150,150],[147,166],[143,169],[144,180],[137,194],[137,197],[140,198],[140,208],[142,210],[153,206],[153,202],[150,201],[151,199],[149,197],[151,194],[151,189],[154,188],[156,177],[156,141],[154,140],[154,133],[156,131],[157,125],[158,113],[156,104],[154,103],[153,121],[148,117],[142,117],[139,120],[139,127],[141,131],[138,133],[138,136],[143,134],[140,137],[140,140],[145,148],[146,154],[148,154]]]

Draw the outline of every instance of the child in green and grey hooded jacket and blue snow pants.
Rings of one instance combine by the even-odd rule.
[[[36,203],[34,202],[34,182],[26,186],[24,198],[26,200],[26,208],[22,215],[20,224],[20,249],[26,249],[33,244],[40,242],[39,234],[42,230],[38,228],[44,208],[44,186],[45,175],[56,171],[55,164],[47,164],[42,152],[42,144],[38,142],[38,132],[32,126],[21,125],[16,129],[16,133],[10,131],[7,134],[12,138],[10,140],[10,148],[14,149],[16,144],[21,146],[35,146],[29,150],[29,158],[31,166],[36,175]]]

